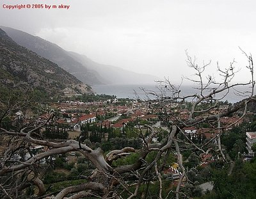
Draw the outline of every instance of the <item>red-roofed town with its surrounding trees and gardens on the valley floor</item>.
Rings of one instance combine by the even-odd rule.
[[[202,104],[205,108],[205,104]],[[218,114],[230,107],[230,103],[223,102],[220,106],[209,111],[209,114]],[[124,157],[115,159],[111,166],[115,168],[122,164],[132,164],[138,158],[138,153],[143,146],[148,143],[159,144],[164,143],[166,136],[170,134],[170,123],[182,122],[188,120],[190,102],[161,104],[154,101],[143,101],[134,99],[116,99],[110,98],[106,100],[91,100],[83,102],[82,100],[63,100],[62,102],[49,102],[45,104],[46,111],[44,113],[36,113],[36,121],[42,122],[47,120],[54,113],[54,119],[41,127],[38,134],[44,139],[55,140],[58,142],[74,139],[79,143],[84,143],[90,148],[100,147],[104,156],[108,157],[111,150],[122,150],[122,148],[132,147],[134,151],[126,153]],[[199,106],[200,110],[200,106]],[[31,115],[30,115],[31,116]],[[204,116],[204,115],[201,115]],[[205,114],[205,116],[207,116]],[[234,160],[243,159],[250,161],[254,157],[255,149],[253,145],[256,143],[256,132],[250,131],[250,123],[253,122],[253,113],[241,119],[241,113],[225,116],[221,118],[221,139],[222,147],[225,148],[225,155],[231,164]],[[33,118],[34,119],[34,118]],[[28,123],[28,114],[18,111],[13,116],[13,122]],[[241,129],[246,127],[246,132]],[[156,132],[152,135],[152,129]],[[232,131],[239,129],[239,138],[233,140]],[[235,129],[235,130],[234,130]],[[237,130],[236,130],[237,131]],[[209,173],[214,168],[223,166],[223,157],[218,150],[217,136],[220,129],[205,122],[200,125],[184,126],[180,129],[179,145],[182,148],[180,153],[181,163],[186,170],[186,177],[182,178],[182,186],[193,184],[195,195],[198,196],[206,193],[207,190],[213,189],[213,183]],[[241,139],[240,139],[241,138]],[[237,147],[239,141],[241,148]],[[232,143],[233,141],[233,143]],[[232,143],[232,144],[230,144]],[[195,148],[202,145],[208,145],[209,150],[203,152],[195,152]],[[228,145],[232,145],[228,148]],[[15,164],[20,161],[28,161],[31,157],[46,152],[49,147],[42,145],[31,145],[29,153],[13,154],[10,163]],[[154,155],[153,152],[150,154]],[[145,162],[152,161],[148,155]],[[177,161],[179,155],[175,152],[162,155],[161,159],[165,159],[166,166],[161,175],[163,175],[164,183],[170,188],[177,186],[179,179],[182,177],[182,168]],[[152,157],[151,157],[152,158]],[[43,166],[50,164],[52,166],[51,175],[46,176],[45,182],[55,183],[56,180],[52,176],[61,176],[63,180],[73,180],[74,177],[83,177],[88,169],[94,169],[88,159],[84,158],[80,152],[72,151],[66,154],[50,155],[40,160]],[[48,179],[49,178],[49,179]],[[192,189],[192,188],[189,188]],[[200,194],[199,194],[200,193]],[[51,198],[51,197],[50,197]]]

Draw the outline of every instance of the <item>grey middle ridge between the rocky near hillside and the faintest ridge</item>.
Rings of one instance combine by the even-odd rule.
[[[17,44],[26,47],[27,49],[36,52],[40,56],[51,60],[52,62],[58,64],[59,67],[67,70],[77,79],[83,81],[86,84],[102,84],[104,83],[104,78],[100,77],[97,72],[93,70],[88,70],[81,63],[74,60],[67,51],[61,49],[56,44],[52,44],[47,40],[44,40],[38,36],[29,35],[23,31],[17,29],[8,28],[0,26],[8,36],[10,36]]]

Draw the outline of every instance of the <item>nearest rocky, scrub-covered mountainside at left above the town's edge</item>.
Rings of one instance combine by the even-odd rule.
[[[15,43],[0,29],[0,96],[10,90],[54,97],[92,92],[76,77]]]

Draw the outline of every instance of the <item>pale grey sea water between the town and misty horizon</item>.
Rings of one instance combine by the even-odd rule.
[[[93,92],[97,94],[116,95],[117,98],[129,98],[129,99],[136,99],[136,95],[138,95],[141,99],[146,99],[145,92],[143,92],[141,88],[144,88],[145,90],[152,90],[156,93],[160,93],[157,86],[153,84],[151,85],[150,84],[148,85],[108,84],[108,85],[92,86]],[[237,88],[237,90],[239,90],[239,92],[246,92],[246,91],[250,91],[250,88],[240,87],[240,88]],[[180,96],[193,95],[195,93],[198,93],[198,90],[193,88],[193,86],[182,86],[180,88]],[[226,93],[217,95],[217,97],[224,97]],[[233,104],[235,102],[239,102],[240,100],[245,99],[246,97],[248,96],[241,95],[241,94],[237,95],[236,90],[230,89],[230,91],[227,93],[227,95],[225,95],[222,101],[228,100],[228,102]]]

